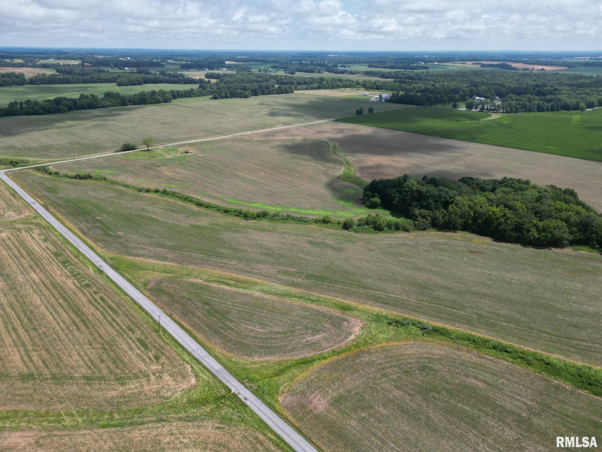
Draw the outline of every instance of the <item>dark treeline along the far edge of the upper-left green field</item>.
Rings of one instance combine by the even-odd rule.
[[[186,77],[181,72],[164,74],[130,74],[128,72],[87,71],[78,67],[57,68],[57,73],[37,74],[25,78],[23,74],[5,72],[0,74],[0,86],[16,85],[63,85],[75,83],[117,83],[119,86],[141,85],[145,83],[197,84],[194,78]]]

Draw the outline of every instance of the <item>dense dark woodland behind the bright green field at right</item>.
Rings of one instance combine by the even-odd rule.
[[[527,71],[462,71],[440,74],[400,72],[389,102],[450,104],[479,96],[492,110],[580,110],[602,106],[602,77]],[[495,98],[500,103],[495,103]]]

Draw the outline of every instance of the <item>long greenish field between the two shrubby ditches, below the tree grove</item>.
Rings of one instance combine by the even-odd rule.
[[[602,364],[602,259],[454,233],[246,222],[93,181],[13,173],[114,254],[210,268]]]

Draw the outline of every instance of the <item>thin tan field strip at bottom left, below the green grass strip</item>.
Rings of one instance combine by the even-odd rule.
[[[0,450],[211,450],[276,451],[272,442],[240,422],[194,421],[138,427],[55,432],[2,432]]]

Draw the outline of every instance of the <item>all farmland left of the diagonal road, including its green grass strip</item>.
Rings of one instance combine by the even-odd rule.
[[[0,212],[0,448],[288,450],[4,183]]]

